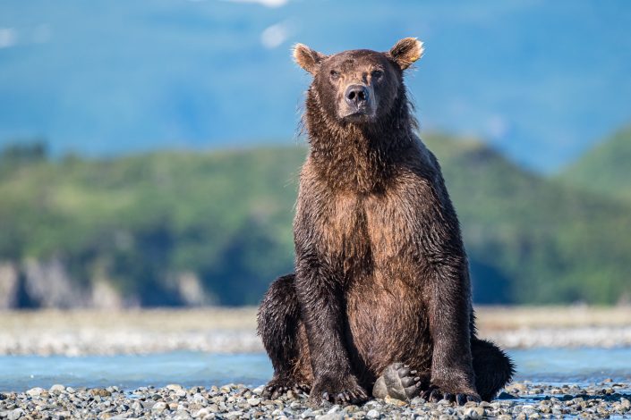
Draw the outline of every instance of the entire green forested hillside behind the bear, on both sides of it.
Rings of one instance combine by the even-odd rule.
[[[524,172],[474,141],[426,143],[461,218],[476,301],[631,297],[628,206]],[[254,304],[292,269],[303,148],[58,161],[9,152],[0,163],[0,262],[54,258],[77,288],[107,279],[148,306],[186,303],[174,283],[181,273],[199,278],[212,302]],[[21,298],[29,304],[37,302]]]

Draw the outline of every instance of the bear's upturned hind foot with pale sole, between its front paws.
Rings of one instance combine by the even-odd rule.
[[[413,399],[430,385],[430,372],[419,373],[410,370],[408,365],[393,363],[388,365],[372,387],[372,396],[384,399]]]

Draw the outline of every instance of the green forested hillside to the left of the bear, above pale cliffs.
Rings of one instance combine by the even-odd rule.
[[[197,273],[222,304],[256,302],[291,269],[297,147],[42,161],[0,179],[0,260],[55,256],[144,305]]]

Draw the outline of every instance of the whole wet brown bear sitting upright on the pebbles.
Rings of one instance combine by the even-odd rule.
[[[295,273],[272,283],[258,331],[274,366],[264,394],[314,402],[389,395],[492,399],[514,368],[475,334],[468,263],[436,157],[415,131],[404,71],[416,38],[387,53],[294,47],[313,76],[310,152],[294,218]]]

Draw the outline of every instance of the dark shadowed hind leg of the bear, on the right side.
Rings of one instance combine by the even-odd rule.
[[[494,399],[499,390],[510,382],[515,365],[495,344],[486,340],[471,340],[475,388],[485,401]]]

